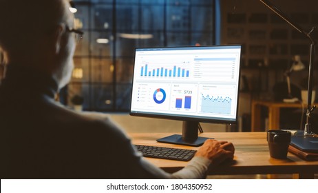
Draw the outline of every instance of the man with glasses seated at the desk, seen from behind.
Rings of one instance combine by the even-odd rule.
[[[143,159],[112,121],[56,103],[73,68],[73,22],[67,0],[0,0],[8,61],[0,86],[1,179],[195,179],[233,159],[232,143],[208,140],[187,167],[168,174]]]

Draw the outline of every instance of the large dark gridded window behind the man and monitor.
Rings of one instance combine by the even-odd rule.
[[[85,34],[67,101],[83,96],[84,110],[129,110],[134,48],[215,44],[214,0],[74,2],[76,28]]]

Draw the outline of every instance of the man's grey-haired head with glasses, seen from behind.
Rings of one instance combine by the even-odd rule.
[[[69,7],[68,0],[0,0],[0,49],[8,63],[36,68],[63,87],[75,47]]]

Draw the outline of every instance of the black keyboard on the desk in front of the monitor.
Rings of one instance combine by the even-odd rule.
[[[178,148],[162,148],[151,145],[135,145],[137,150],[142,153],[142,156],[158,158],[158,159],[172,159],[178,161],[189,161],[193,158],[196,150],[184,150]]]

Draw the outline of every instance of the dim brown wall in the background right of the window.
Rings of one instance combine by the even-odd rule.
[[[318,26],[317,0],[272,2],[304,30]],[[221,43],[242,44],[244,48],[241,74],[248,89],[244,88],[240,94],[239,116],[251,113],[253,99],[274,99],[273,85],[285,81],[284,72],[290,68],[295,54],[301,56],[306,70],[292,74],[291,81],[299,87],[300,78],[307,83],[310,41],[303,34],[277,17],[261,1],[221,1],[221,6]],[[318,32],[315,39],[317,37]],[[315,66],[318,66],[317,54],[315,57]],[[314,75],[318,76],[317,70]],[[314,84],[317,88],[317,78]]]

